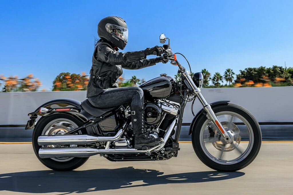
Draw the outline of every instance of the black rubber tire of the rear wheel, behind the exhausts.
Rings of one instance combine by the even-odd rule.
[[[79,122],[77,119],[75,119],[74,117],[68,114],[52,114],[47,117],[40,118],[40,120],[38,121],[37,125],[35,126],[33,130],[33,149],[34,149],[35,155],[40,160],[40,162],[43,163],[43,165],[45,165],[46,167],[52,170],[56,170],[56,171],[74,170],[80,167],[81,165],[83,165],[88,160],[88,157],[87,158],[74,157],[68,161],[56,161],[52,158],[39,157],[39,149],[42,146],[38,145],[38,137],[42,135],[45,126],[55,119],[66,119],[66,121],[71,121],[73,122],[73,124],[76,124],[78,126],[82,125],[81,122]]]

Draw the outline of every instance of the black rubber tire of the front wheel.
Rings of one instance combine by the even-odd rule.
[[[194,125],[194,129],[192,132],[192,144],[193,144],[193,149],[194,149],[197,157],[205,165],[207,165],[208,167],[210,167],[214,170],[217,170],[217,171],[232,172],[232,171],[237,171],[237,170],[243,169],[244,167],[248,166],[255,159],[255,157],[257,156],[257,154],[260,150],[262,136],[261,136],[261,130],[260,130],[260,126],[259,126],[258,122],[253,117],[253,115],[250,112],[248,112],[245,108],[238,106],[238,105],[231,104],[231,103],[229,103],[228,105],[215,106],[212,109],[216,115],[217,115],[217,113],[219,114],[219,112],[222,112],[222,113],[226,112],[226,113],[236,113],[236,114],[239,114],[239,116],[243,117],[243,120],[248,122],[248,124],[251,127],[251,130],[252,130],[251,137],[252,137],[253,143],[251,143],[249,149],[246,149],[244,151],[244,152],[246,152],[245,155],[243,152],[242,158],[241,158],[241,155],[239,156],[238,161],[240,161],[240,162],[235,160],[234,162],[230,163],[227,160],[227,163],[225,163],[224,160],[222,160],[222,155],[219,158],[218,157],[213,158],[213,156],[209,152],[207,152],[208,150],[206,149],[205,144],[204,144],[204,147],[202,144],[203,134],[201,133],[201,131],[203,131],[202,128],[205,128],[203,126],[204,125],[206,126],[207,121],[208,121],[206,115],[202,114],[197,119],[197,124]],[[200,139],[202,139],[202,140],[200,140]],[[216,142],[221,143],[220,141],[216,141]],[[205,143],[207,143],[207,142],[205,142]],[[217,143],[214,145],[217,145]],[[207,145],[207,146],[212,148],[210,145]],[[225,145],[224,145],[224,148],[225,148]],[[248,146],[247,146],[247,148],[248,148]],[[225,149],[223,149],[223,150],[225,150]],[[223,153],[223,152],[221,151],[221,153]],[[233,161],[233,160],[231,160],[231,161]]]

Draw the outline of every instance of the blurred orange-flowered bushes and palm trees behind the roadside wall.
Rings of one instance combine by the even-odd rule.
[[[224,87],[275,87],[275,86],[293,86],[293,68],[284,68],[283,66],[272,66],[266,68],[248,67],[235,74],[230,68],[226,69],[222,75],[216,72],[211,75],[207,69],[202,69],[203,87],[205,88],[224,88]],[[190,73],[192,76],[193,73]],[[181,80],[180,73],[174,75],[178,82]],[[89,81],[85,72],[81,74],[62,72],[53,81],[52,91],[78,91],[86,90]],[[120,76],[118,78],[119,87],[138,86],[144,83],[144,79],[139,79],[135,75],[126,80]],[[5,77],[0,75],[0,92],[20,92],[37,91],[42,86],[41,81],[29,74],[25,78],[18,76]],[[46,89],[41,89],[46,91]]]

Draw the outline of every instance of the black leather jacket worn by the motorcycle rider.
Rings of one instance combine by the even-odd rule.
[[[117,79],[122,75],[122,68],[141,69],[161,62],[160,58],[145,58],[144,50],[122,53],[111,43],[99,40],[93,52],[86,97],[99,95],[108,88],[117,88]]]

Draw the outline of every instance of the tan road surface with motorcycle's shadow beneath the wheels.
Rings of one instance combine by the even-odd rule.
[[[43,166],[31,144],[0,144],[0,194],[293,194],[293,143],[263,143],[258,157],[238,172],[216,172],[180,143],[177,158],[110,162],[93,156],[79,169]]]

